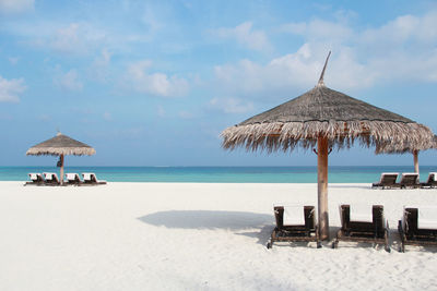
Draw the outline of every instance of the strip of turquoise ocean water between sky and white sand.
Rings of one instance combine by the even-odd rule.
[[[412,172],[413,166],[329,167],[330,183],[371,183],[381,172]],[[421,166],[421,181],[437,166]],[[56,167],[0,167],[0,181],[26,181],[29,172]],[[66,172],[95,172],[109,182],[316,183],[317,167],[67,167]]]

